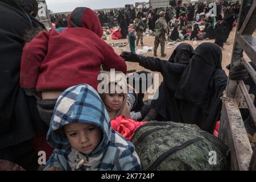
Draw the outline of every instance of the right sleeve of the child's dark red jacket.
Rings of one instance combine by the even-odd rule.
[[[105,42],[104,42],[105,43]],[[114,49],[109,46],[109,44],[104,44],[104,67],[108,69],[115,69],[117,71],[121,71],[123,73],[127,73],[127,65],[125,61],[120,57],[117,53],[115,53]]]

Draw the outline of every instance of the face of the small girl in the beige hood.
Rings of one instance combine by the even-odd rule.
[[[123,103],[123,93],[108,93],[104,97],[104,104],[112,110],[118,110]]]

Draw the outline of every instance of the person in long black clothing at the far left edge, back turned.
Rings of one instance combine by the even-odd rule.
[[[30,2],[35,6],[28,6]],[[30,7],[30,11],[22,5]],[[22,37],[26,30],[45,28],[32,16],[37,14],[37,6],[35,0],[0,0],[0,159],[25,169],[38,166],[38,155],[30,139],[38,133],[47,133],[47,126],[36,107],[36,98],[26,96],[19,86],[20,59],[25,43]]]

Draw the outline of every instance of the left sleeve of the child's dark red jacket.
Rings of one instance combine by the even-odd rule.
[[[39,68],[47,54],[49,32],[41,32],[23,47],[20,63],[20,86],[32,89],[36,86]]]

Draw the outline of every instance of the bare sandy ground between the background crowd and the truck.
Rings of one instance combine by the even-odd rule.
[[[229,38],[228,38],[228,42],[230,43],[230,45],[224,45],[224,50],[222,50],[222,68],[225,70],[227,75],[228,75],[228,69],[226,69],[226,65],[228,65],[230,63],[230,60],[231,60],[231,57],[232,57],[235,33],[236,33],[236,27],[233,28],[232,32],[230,32],[230,35],[229,35]],[[108,35],[108,37],[110,38],[110,35]],[[154,36],[144,36],[143,40],[144,40],[144,45],[145,46],[154,48],[154,40],[155,40]],[[123,42],[128,42],[128,40],[127,39],[119,39],[119,40],[108,39],[108,40],[106,40],[106,42],[107,43],[123,43]],[[197,46],[193,46],[193,43],[190,40],[186,40],[184,42],[191,44],[194,49],[197,47]],[[179,42],[179,43],[184,43],[184,42]],[[212,42],[212,43],[214,43],[214,40],[198,40],[197,42],[199,44],[203,43],[203,42]],[[139,43],[139,46],[136,47],[136,49],[142,49],[142,48],[143,47],[141,47],[140,43]],[[175,48],[176,48],[176,46],[174,46],[174,45],[167,45],[166,44],[165,53],[167,54],[167,56],[165,58],[163,58],[163,60],[168,60]],[[120,54],[122,52],[122,49],[127,49],[127,50],[130,51],[129,45],[127,45],[125,47],[119,47],[119,48],[114,47],[114,51],[117,54]],[[158,54],[158,56],[160,56],[160,45],[158,47],[158,53],[157,54]],[[153,51],[147,52],[145,55],[146,56],[153,56]],[[126,62],[126,64],[127,64],[127,69],[128,70],[129,69],[136,69],[137,71],[148,71],[148,72],[151,72],[151,73],[156,73],[156,72],[149,71],[146,68],[143,68],[143,67],[139,66],[138,63]],[[159,74],[159,84],[162,81],[163,81],[163,77],[162,77],[161,74]]]

